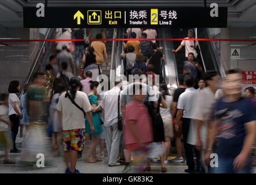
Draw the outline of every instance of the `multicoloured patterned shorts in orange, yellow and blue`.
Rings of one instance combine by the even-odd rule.
[[[63,143],[65,151],[83,150],[83,142],[85,141],[85,129],[71,129],[63,131]]]

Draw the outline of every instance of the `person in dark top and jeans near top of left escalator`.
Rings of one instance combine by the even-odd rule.
[[[83,28],[79,28],[77,31],[75,31],[74,38],[75,39],[83,39],[83,35],[84,35]],[[76,65],[76,70],[79,69],[80,53],[81,54],[85,53],[85,43],[83,41],[75,42],[75,65]]]

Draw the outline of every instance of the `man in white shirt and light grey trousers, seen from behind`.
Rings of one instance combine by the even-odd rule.
[[[119,82],[118,82],[119,83]],[[118,84],[116,82],[116,85]],[[115,86],[105,92],[102,105],[104,115],[104,127],[106,130],[106,143],[108,151],[108,166],[119,166],[118,161],[119,144],[122,131],[118,129],[118,95],[120,88]],[[120,95],[119,95],[120,102]],[[119,103],[120,104],[120,103]],[[119,109],[119,113],[120,113]]]

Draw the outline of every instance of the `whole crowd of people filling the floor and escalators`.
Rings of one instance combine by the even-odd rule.
[[[79,29],[74,36],[84,38],[85,33],[88,34]],[[103,33],[104,30],[96,39],[105,38]],[[71,29],[57,29],[56,35],[70,38]],[[124,35],[152,39],[157,36],[155,29],[140,28],[127,29]],[[188,35],[192,38],[193,31],[189,30]],[[123,173],[131,171],[131,164],[133,172],[151,171],[151,161],[160,157],[160,171],[164,173],[172,139],[177,150],[172,161],[186,161],[187,173],[250,173],[251,147],[256,138],[255,89],[246,88],[243,98],[242,76],[238,71],[228,71],[224,79],[215,71],[204,73],[195,62],[197,44],[186,41],[173,50],[177,53],[185,46],[188,58],[173,94],[163,76],[161,78],[164,55],[163,48],[156,42],[129,40],[124,43],[121,57],[125,60],[125,75],[143,77],[129,82],[109,82],[114,85],[110,89],[109,84],[102,87],[97,81],[104,61],[108,65],[104,42],[93,41],[87,46],[75,43],[75,49],[69,42],[56,43],[56,55],[50,56],[45,73],[34,74],[32,83],[23,87],[21,98],[17,95],[21,90],[17,80],[10,82],[9,95],[1,94],[3,163],[14,164],[9,152],[21,153],[21,161],[36,161],[36,156],[29,155],[36,147],[31,132],[25,136],[32,141],[24,141],[24,151],[16,147],[19,125],[24,124],[28,131],[33,131],[35,125],[52,128],[49,134],[53,148],[57,156],[64,153],[65,173],[80,173],[76,169],[80,157],[87,163],[95,163],[103,161],[105,155],[108,166],[125,164]],[[72,51],[76,53],[75,62]],[[80,68],[82,73],[78,72]],[[153,79],[153,83],[149,83],[149,79]],[[46,138],[43,129],[42,133],[45,135],[37,139]],[[85,139],[90,140],[87,151],[83,151]],[[41,145],[45,145],[41,149],[46,149],[46,142]],[[210,162],[213,153],[218,155],[217,167]]]

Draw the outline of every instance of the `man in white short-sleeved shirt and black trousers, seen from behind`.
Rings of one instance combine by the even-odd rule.
[[[197,92],[195,88],[193,88],[195,80],[192,75],[186,75],[184,77],[185,83],[185,92],[183,92],[180,97],[178,98],[178,105],[177,105],[177,126],[175,129],[180,129],[182,123],[182,135],[183,135],[183,142],[184,142],[184,149],[186,155],[186,165],[188,165],[188,169],[185,169],[186,173],[195,173],[195,162],[193,160],[193,146],[188,143],[188,135],[190,131],[191,119],[192,119],[192,110],[193,110],[193,100],[195,97],[195,93]],[[183,116],[182,116],[183,115]],[[181,122],[182,119],[182,122]],[[200,153],[199,151],[195,150],[196,154],[196,168],[197,171],[200,170]]]

